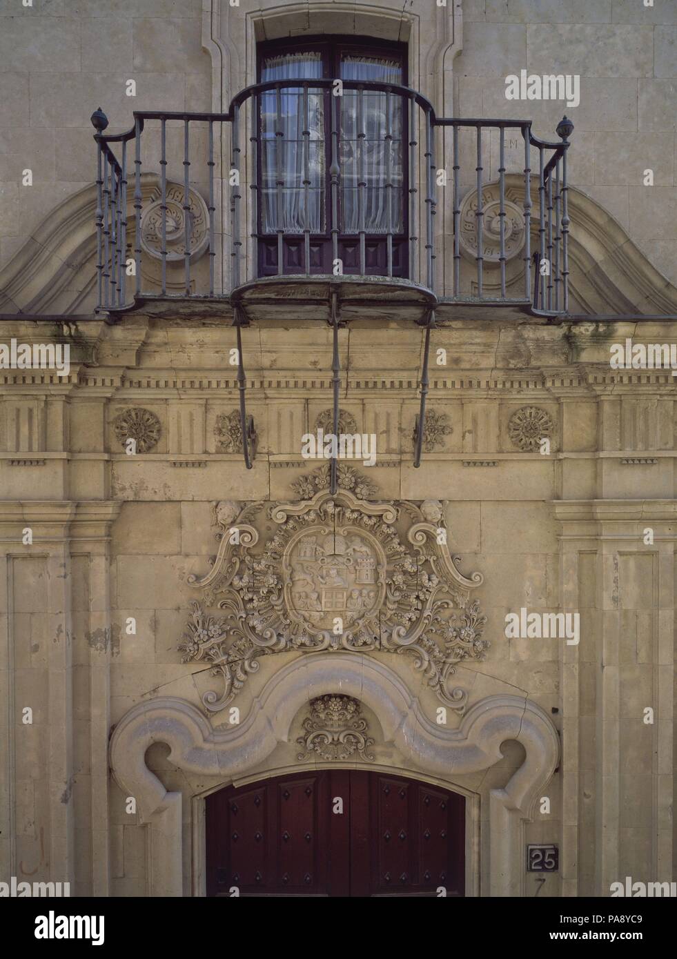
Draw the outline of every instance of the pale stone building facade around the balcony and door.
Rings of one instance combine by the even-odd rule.
[[[669,881],[676,394],[669,369],[609,358],[626,339],[677,343],[674,11],[630,0],[138,8],[0,6],[0,343],[67,344],[71,357],[66,376],[0,370],[0,878],[70,881],[79,895],[203,895],[206,795],[338,762],[466,797],[468,895],[534,896],[526,843],[559,847],[542,897],[608,896],[626,876]],[[377,460],[341,463],[335,497],[324,464],[300,453],[304,433],[331,428],[325,316],[291,316],[292,304],[281,323],[264,305],[242,329],[256,432],[247,470],[232,302],[93,311],[87,126],[98,105],[111,129],[128,129],[132,107],[222,111],[254,82],[257,40],[322,33],[407,41],[409,85],[441,115],[534,118],[550,138],[562,105],[508,102],[504,77],[581,75],[572,316],[441,304],[415,469],[420,310],[391,311],[385,296],[346,314],[340,422],[376,436]],[[202,182],[192,188],[205,199]],[[144,191],[152,199],[152,184]],[[152,260],[147,246],[148,275]],[[316,553],[326,534],[315,527],[337,508],[350,542]],[[325,564],[280,592],[304,563],[340,566],[350,550],[347,578],[338,570],[333,583]],[[404,601],[385,614],[395,586],[420,591],[410,615]],[[409,635],[398,629],[442,587],[444,617],[456,617],[439,626],[442,652],[421,640],[418,663],[393,655]],[[265,594],[278,619],[252,620],[256,654],[245,635],[220,667],[231,647],[217,619],[255,618]],[[577,613],[579,642],[507,636],[506,617],[523,609]],[[346,620],[342,645],[322,635],[326,610]],[[317,705],[327,696],[344,697],[343,713]],[[322,720],[348,736],[342,751]]]

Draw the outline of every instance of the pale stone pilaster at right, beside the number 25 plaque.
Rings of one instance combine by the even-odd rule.
[[[593,500],[553,508],[563,608],[581,614],[576,671],[571,653],[560,664],[563,882],[566,890],[577,844],[578,895],[608,896],[625,876],[670,878],[677,505]]]

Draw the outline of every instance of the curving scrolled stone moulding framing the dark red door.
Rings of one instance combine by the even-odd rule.
[[[488,810],[487,892],[519,896],[525,820],[559,757],[559,739],[549,716],[525,697],[497,694],[475,703],[458,729],[446,730],[423,713],[403,680],[384,663],[371,656],[331,652],[280,669],[232,730],[215,731],[192,703],[175,697],[139,703],[117,724],[110,739],[110,767],[126,795],[135,797],[141,821],[150,828],[150,895],[182,896],[184,862],[183,797],[168,791],[149,769],[146,752],[152,744],[166,743],[169,760],[177,767],[219,776],[221,785],[243,781],[248,773],[252,780],[265,778],[278,770],[257,772],[261,763],[278,742],[287,741],[298,711],[326,692],[353,696],[376,714],[384,740],[410,763],[401,774],[430,778],[448,788],[457,788],[455,777],[501,760],[506,740],[523,745],[525,761],[504,787],[491,790]],[[198,891],[195,884],[193,891]]]

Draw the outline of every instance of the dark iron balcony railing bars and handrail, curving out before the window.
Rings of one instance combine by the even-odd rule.
[[[92,116],[98,145],[98,203],[97,269],[98,306],[104,310],[122,310],[133,303],[133,298],[159,297],[223,297],[230,296],[242,285],[259,276],[257,247],[262,242],[259,222],[261,183],[261,129],[259,111],[262,98],[275,93],[275,134],[279,143],[282,131],[282,95],[285,89],[301,91],[304,109],[303,182],[298,186],[299,196],[305,197],[302,237],[296,236],[302,261],[298,273],[310,276],[317,272],[311,263],[312,236],[308,210],[308,98],[311,90],[327,91],[331,105],[325,110],[329,124],[329,197],[331,227],[325,231],[325,240],[331,243],[332,262],[340,263],[338,231],[338,199],[341,171],[338,161],[340,142],[338,97],[333,96],[333,80],[286,80],[256,83],[235,96],[226,113],[181,113],[162,111],[134,112],[134,125],[127,132],[105,133],[107,120],[101,110]],[[572,124],[565,117],[558,125],[560,141],[551,143],[535,137],[531,121],[479,120],[440,118],[435,115],[430,101],[415,90],[382,82],[342,81],[342,90],[355,91],[359,126],[357,150],[364,150],[364,98],[372,93],[386,95],[384,140],[392,138],[392,104],[399,104],[406,117],[407,176],[401,187],[393,182],[391,163],[386,160],[385,188],[392,209],[396,189],[403,191],[403,208],[407,201],[406,269],[400,271],[410,282],[426,288],[438,301],[472,303],[530,304],[535,310],[549,314],[568,310],[568,180],[567,151]],[[248,137],[245,130],[249,129]],[[158,136],[159,134],[159,136]],[[509,148],[506,144],[509,139]],[[171,140],[171,143],[168,141]],[[182,141],[182,142],[181,142]],[[474,142],[473,142],[474,141]],[[129,175],[129,159],[133,142],[133,173]],[[248,147],[247,147],[248,144]],[[118,155],[113,148],[119,145]],[[404,147],[404,144],[403,144]],[[442,153],[440,153],[440,147]],[[488,148],[488,149],[487,149]],[[511,170],[506,162],[510,152]],[[390,152],[385,150],[387,157]],[[437,156],[443,154],[443,163],[437,166]],[[279,152],[278,152],[279,155]],[[519,162],[517,157],[520,157]],[[532,161],[533,165],[532,165]],[[498,164],[498,166],[497,166]],[[168,250],[168,167],[182,168],[176,176],[176,189],[182,193],[181,208],[182,249],[178,245]],[[367,248],[372,242],[364,224],[365,175],[364,163],[358,158],[358,222],[354,235],[358,249],[356,268],[360,276],[372,275],[367,264]],[[447,168],[451,167],[447,183]],[[159,175],[157,171],[159,169]],[[492,170],[497,176],[490,179]],[[536,173],[537,171],[537,173]],[[142,221],[149,198],[144,196],[143,176],[155,174],[152,202],[159,200],[160,223],[155,236],[154,255],[159,260],[157,275],[150,280],[142,277]],[[506,177],[519,180],[524,198],[521,203],[524,246],[519,276],[514,266],[508,275],[506,253]],[[133,181],[134,245],[128,250],[128,180]],[[276,190],[279,203],[280,171],[276,171]],[[498,185],[498,215],[493,223],[498,243],[498,269],[487,280],[487,257],[484,249],[485,191],[489,184]],[[243,186],[248,187],[249,201],[245,202]],[[449,189],[451,187],[451,189]],[[474,267],[469,266],[467,247],[461,243],[461,202],[467,193],[476,191],[476,252]],[[206,201],[208,233],[208,269],[193,263],[196,252],[192,236],[193,213],[191,192]],[[175,191],[176,192],[176,191]],[[532,199],[532,192],[534,193]],[[226,199],[227,194],[227,199]],[[493,204],[494,206],[496,204]],[[303,208],[303,204],[301,204]],[[453,236],[453,254],[450,264],[440,265],[440,251],[444,237],[435,226],[440,207],[448,225],[444,232]],[[513,202],[514,207],[514,202]],[[498,219],[498,225],[496,220]],[[248,222],[248,226],[247,226]],[[172,222],[173,237],[181,224]],[[277,275],[285,273],[283,244],[289,239],[283,229],[276,230]],[[532,232],[537,248],[532,251]],[[479,237],[481,242],[477,242]],[[269,237],[267,243],[269,241]],[[393,233],[391,213],[381,240],[385,240],[385,266],[380,275],[398,275],[393,267],[393,250],[400,243]],[[447,241],[449,246],[449,241]],[[399,248],[399,247],[398,247]],[[178,251],[176,251],[178,250]],[[133,252],[133,257],[128,255]],[[205,250],[206,252],[206,250]],[[451,250],[450,250],[451,253]],[[532,263],[533,259],[533,263]],[[168,263],[170,261],[170,263]],[[229,265],[227,261],[230,261]],[[463,262],[465,261],[465,262]],[[453,264],[453,265],[452,265]],[[182,266],[182,269],[181,269]],[[533,270],[533,275],[532,275]],[[152,270],[151,270],[152,272]],[[320,271],[321,272],[321,271]],[[171,275],[168,275],[171,274]],[[321,273],[324,275],[324,273]],[[127,277],[133,276],[129,284]],[[441,280],[441,282],[440,282]],[[147,284],[145,286],[145,284]],[[441,287],[441,289],[439,289]],[[515,290],[517,289],[517,292]],[[133,298],[132,298],[133,297]]]

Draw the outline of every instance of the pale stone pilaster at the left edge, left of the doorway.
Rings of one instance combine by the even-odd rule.
[[[72,557],[85,551],[90,635],[100,630],[104,637],[91,649],[92,787],[86,804],[98,895],[107,892],[108,873],[108,535],[118,510],[117,503],[0,501],[3,875],[74,888],[74,792],[81,770],[74,736]]]

